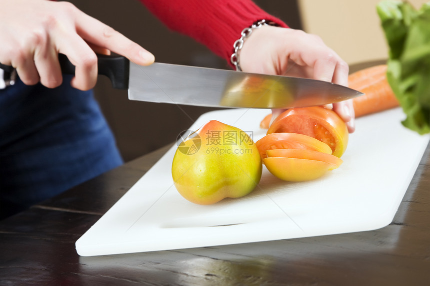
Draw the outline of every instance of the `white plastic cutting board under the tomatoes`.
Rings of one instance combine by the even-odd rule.
[[[218,120],[254,141],[269,110],[228,109],[203,114],[189,128]],[[200,206],[183,199],[171,178],[176,146],[81,238],[81,256],[147,252],[331,235],[388,225],[429,141],[400,124],[400,108],[356,120],[343,164],[326,176],[288,183],[263,167],[259,187],[240,199]]]

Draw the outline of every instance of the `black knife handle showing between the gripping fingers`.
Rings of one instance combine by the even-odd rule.
[[[74,65],[64,54],[58,54],[58,61],[63,74],[74,74]],[[128,89],[130,61],[120,55],[97,54],[98,74],[107,76],[113,88]],[[10,73],[13,67],[0,63],[0,68]]]

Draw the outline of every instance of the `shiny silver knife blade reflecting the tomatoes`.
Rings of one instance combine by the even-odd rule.
[[[362,95],[320,80],[167,63],[130,62],[128,86],[131,100],[209,107],[292,108]]]

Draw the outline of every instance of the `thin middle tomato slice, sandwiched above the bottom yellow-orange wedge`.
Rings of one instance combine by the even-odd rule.
[[[267,157],[287,157],[287,158],[322,161],[332,165],[332,167],[329,170],[336,169],[343,163],[342,159],[334,155],[318,152],[318,151],[312,151],[312,150],[272,149],[272,150],[267,150],[266,153],[267,153]]]

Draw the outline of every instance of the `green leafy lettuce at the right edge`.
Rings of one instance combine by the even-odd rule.
[[[419,10],[405,1],[384,0],[376,11],[389,46],[387,80],[406,119],[419,134],[430,132],[430,1]]]

